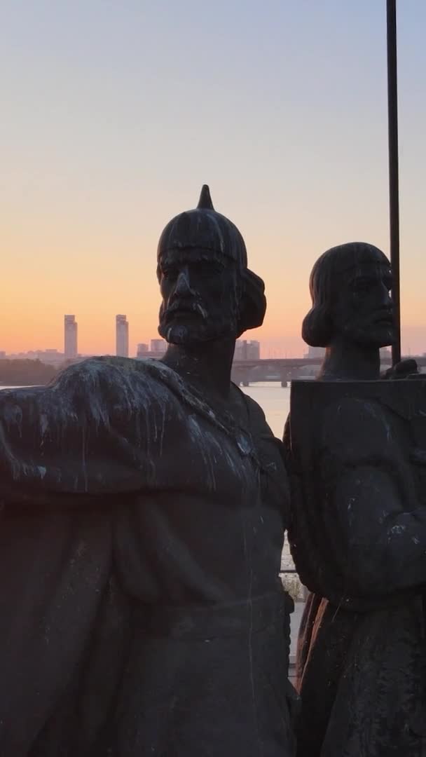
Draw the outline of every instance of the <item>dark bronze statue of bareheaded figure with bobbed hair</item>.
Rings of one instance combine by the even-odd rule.
[[[378,381],[391,289],[387,257],[361,243],[326,252],[310,279],[303,338],[325,360],[319,382],[292,386],[286,439],[291,548],[311,591],[298,757],[424,754],[426,382]]]

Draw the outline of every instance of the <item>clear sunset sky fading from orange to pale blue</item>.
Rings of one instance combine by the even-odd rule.
[[[426,2],[399,0],[403,350],[426,351]],[[0,350],[157,336],[157,239],[210,185],[303,352],[316,257],[388,251],[385,0],[5,0]]]

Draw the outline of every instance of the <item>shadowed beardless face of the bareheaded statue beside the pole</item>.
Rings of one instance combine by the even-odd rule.
[[[334,332],[347,341],[386,347],[395,338],[393,279],[389,261],[377,253],[366,251],[339,275],[333,325]]]

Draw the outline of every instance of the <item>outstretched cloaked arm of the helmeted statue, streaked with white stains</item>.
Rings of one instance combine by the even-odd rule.
[[[132,366],[107,360],[71,366],[48,387],[0,392],[0,496],[137,491],[149,400]]]

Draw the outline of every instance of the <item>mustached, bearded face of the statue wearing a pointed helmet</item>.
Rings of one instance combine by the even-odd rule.
[[[170,344],[194,346],[237,333],[237,267],[228,257],[194,248],[170,250],[158,264],[158,331]]]

